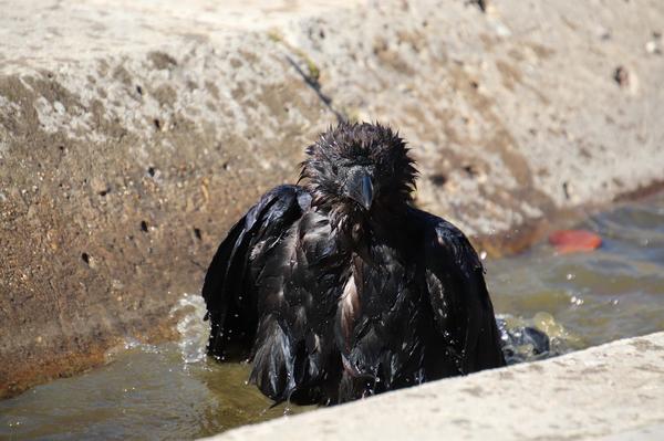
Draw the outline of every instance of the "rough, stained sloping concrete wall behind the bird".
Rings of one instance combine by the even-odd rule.
[[[485,246],[664,181],[664,3],[0,1],[0,397],[168,338],[339,118]]]

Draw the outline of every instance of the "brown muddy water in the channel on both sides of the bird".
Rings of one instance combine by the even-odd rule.
[[[535,326],[559,354],[664,329],[664,195],[590,217],[590,253],[548,244],[487,259],[487,281],[508,327]],[[0,401],[0,439],[193,439],[309,410],[279,406],[247,386],[247,366],[205,356],[203,301],[184,296],[178,343],[127,340],[108,364]],[[529,354],[527,348],[517,351]],[[527,358],[540,358],[528,356]]]

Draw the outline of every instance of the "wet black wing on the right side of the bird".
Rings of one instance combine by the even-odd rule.
[[[460,374],[505,365],[484,267],[464,233],[452,223],[412,209],[424,233],[426,288],[435,325]]]

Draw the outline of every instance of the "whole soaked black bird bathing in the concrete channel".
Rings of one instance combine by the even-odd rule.
[[[341,123],[301,166],[301,185],[264,193],[209,265],[209,355],[248,359],[276,402],[320,405],[505,365],[480,260],[413,207],[398,134]]]

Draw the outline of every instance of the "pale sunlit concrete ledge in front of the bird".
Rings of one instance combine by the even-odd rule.
[[[209,440],[664,439],[664,333],[280,418]]]

